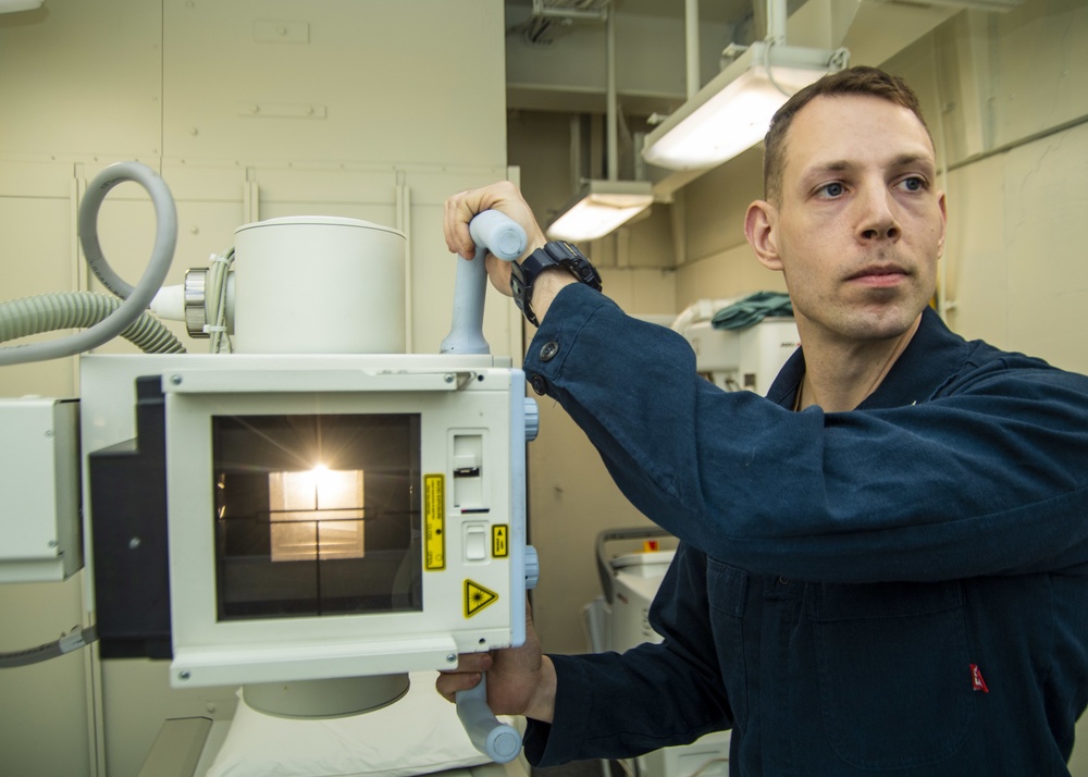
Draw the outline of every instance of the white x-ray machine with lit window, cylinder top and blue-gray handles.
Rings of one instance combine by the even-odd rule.
[[[123,181],[148,190],[159,222],[135,287],[110,270],[96,230]],[[334,716],[396,701],[409,671],[524,641],[536,578],[524,446],[536,407],[481,329],[483,250],[511,260],[526,238],[497,212],[471,230],[480,257],[458,261],[442,353],[406,355],[401,233],[319,217],[247,224],[227,256],[160,295],[176,234],[165,185],[136,163],[91,183],[81,239],[124,301],[69,350],[7,348],[7,362],[128,336],[152,299],[210,334],[213,350],[233,332],[237,353],[82,357],[96,624],[66,650],[97,636],[104,659],[170,659],[175,688],[242,684],[258,710]],[[96,330],[104,340],[88,344]],[[74,451],[73,424],[54,425]],[[62,533],[38,571],[78,568],[78,531]],[[457,706],[481,751],[517,755],[520,735],[487,710],[483,683]]]

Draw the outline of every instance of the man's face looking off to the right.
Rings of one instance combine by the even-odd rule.
[[[781,201],[767,209],[769,250],[757,252],[784,273],[802,338],[860,343],[911,328],[944,247],[935,184],[932,144],[908,109],[836,96],[798,112]]]

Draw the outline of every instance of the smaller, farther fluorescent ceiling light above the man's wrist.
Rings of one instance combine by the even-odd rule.
[[[545,232],[554,240],[595,240],[633,219],[653,201],[648,181],[590,181],[581,197]]]

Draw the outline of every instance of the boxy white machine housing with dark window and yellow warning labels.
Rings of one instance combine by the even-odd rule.
[[[441,669],[455,666],[459,652],[523,642],[527,400],[523,374],[508,365],[509,359],[492,356],[449,355],[85,356],[85,455],[134,436],[134,381],[161,377],[172,684]],[[385,453],[396,449],[406,456],[403,471],[375,465],[382,470],[378,477],[403,486],[396,499],[408,506],[404,515],[370,514],[367,497],[381,484],[366,480],[366,466],[319,461],[313,452],[301,449],[287,452],[284,460],[292,460],[290,466],[270,466],[287,439],[272,433],[277,428],[301,425],[310,429],[310,440],[325,435],[330,445],[359,447],[349,433],[333,433],[332,424],[322,429],[323,418],[335,418],[342,427],[346,422],[348,429],[355,423],[360,431],[375,419],[393,419],[393,431],[379,424],[363,446],[383,444]],[[407,445],[390,447],[391,436],[405,434],[412,437]],[[217,460],[217,445],[230,435],[233,447],[224,444]],[[270,442],[271,447],[251,460],[228,460],[236,457],[239,440],[258,447]],[[335,458],[336,452],[326,453]],[[311,550],[308,558],[299,557],[297,548],[280,559],[268,548],[255,555],[245,535],[273,530],[252,526],[240,532],[244,546],[227,552],[224,532],[230,531],[232,508],[224,489],[256,489],[261,492],[258,502],[267,501],[264,489],[273,486],[261,485],[262,479],[282,480],[284,472],[305,473],[319,464],[358,471],[355,482],[360,491],[364,480],[367,486],[362,503],[332,499],[322,505],[314,491],[312,504],[281,499],[280,517],[313,530],[346,517],[343,526],[359,530],[361,558],[337,557],[335,547]],[[314,508],[313,515],[300,515]],[[263,510],[269,521],[277,514],[274,505],[265,504]],[[382,521],[403,523],[395,532],[401,544],[384,548],[398,559],[396,574],[383,578],[393,590],[353,591],[342,599],[355,597],[363,606],[334,602],[331,612],[320,596],[316,606],[307,596],[276,599],[277,592],[293,591],[299,579],[305,585],[344,587],[367,578],[368,565],[382,563],[383,548],[367,539]],[[133,539],[134,546],[138,542]],[[256,588],[249,593],[246,585],[231,589],[237,579]],[[366,604],[383,597],[384,604]]]

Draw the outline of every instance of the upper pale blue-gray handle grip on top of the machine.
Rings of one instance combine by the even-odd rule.
[[[475,257],[457,260],[454,279],[454,322],[442,341],[443,354],[490,354],[483,336],[483,299],[487,292],[487,270],[484,252],[514,261],[526,251],[526,231],[508,215],[497,210],[477,213],[469,222],[469,234],[477,245]]]

